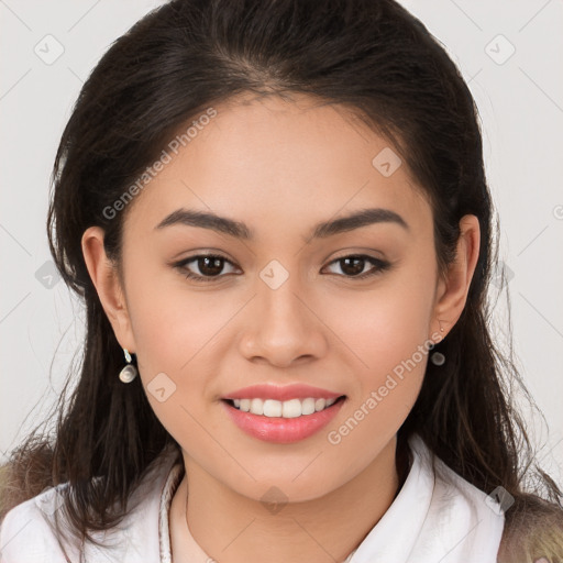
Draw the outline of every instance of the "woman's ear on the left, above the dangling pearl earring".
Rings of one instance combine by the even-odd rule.
[[[124,289],[121,286],[115,264],[106,255],[103,236],[104,232],[100,227],[90,227],[84,232],[81,240],[84,258],[118,342],[121,347],[134,353],[135,341]]]

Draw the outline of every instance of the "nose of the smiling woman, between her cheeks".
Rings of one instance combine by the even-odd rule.
[[[314,310],[314,300],[302,296],[291,276],[277,289],[260,280],[245,312],[241,354],[276,367],[322,357],[328,349],[322,311]]]

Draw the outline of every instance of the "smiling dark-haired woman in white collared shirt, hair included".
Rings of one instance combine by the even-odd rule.
[[[85,356],[12,454],[2,562],[562,561],[487,325],[474,101],[399,4],[173,0],[53,180]]]

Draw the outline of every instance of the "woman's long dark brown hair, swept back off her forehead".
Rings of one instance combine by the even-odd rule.
[[[448,362],[428,363],[418,400],[399,430],[399,448],[418,432],[479,489],[503,486],[515,498],[506,514],[508,548],[537,515],[549,517],[561,533],[562,493],[534,467],[514,407],[511,389],[526,388],[511,347],[504,354],[490,335],[487,288],[498,257],[478,113],[443,47],[393,0],[173,0],[103,55],[64,130],[47,218],[54,261],[86,307],[79,379],[69,394],[69,378],[60,396],[55,433],[34,432],[12,452],[2,514],[68,482],[75,494],[64,508],[75,532],[91,540],[88,530],[110,528],[124,516],[126,499],[163,449],[179,451],[139,379],[128,386],[118,380],[122,350],[80,241],[88,227],[101,227],[106,252],[119,267],[131,206],[117,217],[107,209],[178,128],[242,92],[299,92],[343,104],[390,140],[431,202],[442,273],[455,255],[460,219],[477,216],[481,249],[467,302],[435,346]],[[537,477],[533,490],[525,487],[532,483],[529,475]],[[119,508],[108,511],[115,501]],[[542,549],[531,540],[526,545],[530,556]]]

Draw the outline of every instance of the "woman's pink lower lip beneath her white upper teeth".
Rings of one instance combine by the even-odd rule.
[[[253,415],[239,410],[227,400],[221,400],[221,404],[231,420],[247,434],[264,442],[287,444],[305,440],[319,432],[338,415],[344,400],[339,399],[328,409],[296,418]]]

